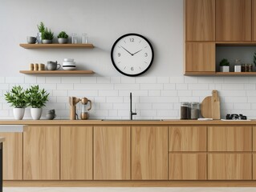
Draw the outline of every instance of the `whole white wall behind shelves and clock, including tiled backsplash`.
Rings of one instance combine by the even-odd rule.
[[[90,98],[91,118],[128,118],[129,92],[136,118],[180,118],[180,102],[201,102],[219,90],[221,114],[242,113],[255,118],[256,78],[185,77],[183,71],[183,1],[181,0],[8,0],[0,2],[0,118],[13,118],[3,94],[14,85],[39,84],[50,93],[45,109],[68,118],[68,96]],[[25,50],[18,46],[37,33],[43,21],[55,32],[86,32],[92,50]],[[155,60],[141,77],[128,78],[112,66],[112,44],[123,34],[138,33],[154,47]],[[75,58],[85,76],[30,76],[19,74],[31,62]],[[29,109],[26,117],[30,118]]]

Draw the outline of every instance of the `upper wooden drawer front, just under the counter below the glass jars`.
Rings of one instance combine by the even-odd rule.
[[[169,126],[169,151],[206,151],[206,126]]]

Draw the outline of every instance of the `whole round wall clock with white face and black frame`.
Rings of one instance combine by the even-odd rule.
[[[111,58],[121,74],[137,76],[152,65],[154,52],[147,38],[140,34],[124,34],[112,46]]]

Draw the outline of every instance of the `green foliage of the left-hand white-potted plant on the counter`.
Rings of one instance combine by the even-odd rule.
[[[13,86],[10,91],[7,91],[6,101],[11,103],[15,108],[25,108],[28,105],[26,91],[21,86]]]

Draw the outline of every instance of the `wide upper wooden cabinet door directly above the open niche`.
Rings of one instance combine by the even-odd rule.
[[[251,0],[216,0],[216,41],[251,41]]]

